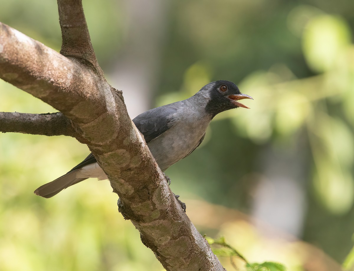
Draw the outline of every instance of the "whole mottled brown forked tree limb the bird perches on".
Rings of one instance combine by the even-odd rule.
[[[120,91],[103,77],[79,0],[58,0],[61,54],[0,23],[0,78],[61,113],[1,113],[0,131],[70,135],[89,146],[119,210],[166,270],[224,270],[177,203]]]

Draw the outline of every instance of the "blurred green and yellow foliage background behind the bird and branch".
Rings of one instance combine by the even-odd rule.
[[[84,10],[132,118],[219,79],[254,98],[215,117],[166,171],[202,234],[251,262],[353,270],[354,1],[84,0]],[[60,50],[56,1],[2,0],[0,21]],[[0,110],[56,111],[4,81]],[[69,137],[0,134],[0,270],[163,270],[108,181],[33,194],[88,152]]]

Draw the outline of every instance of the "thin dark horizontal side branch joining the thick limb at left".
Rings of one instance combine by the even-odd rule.
[[[60,112],[51,114],[0,112],[0,132],[78,136],[72,122]]]

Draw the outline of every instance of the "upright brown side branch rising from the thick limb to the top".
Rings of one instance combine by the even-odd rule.
[[[57,0],[59,23],[62,29],[60,53],[66,57],[87,60],[102,73],[91,44],[81,0]]]

